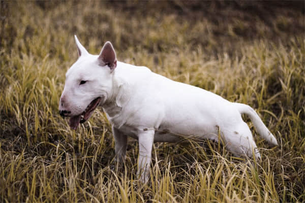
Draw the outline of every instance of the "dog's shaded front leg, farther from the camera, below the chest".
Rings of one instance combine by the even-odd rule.
[[[127,136],[113,126],[112,133],[115,143],[115,160],[118,163],[124,162],[127,147]]]

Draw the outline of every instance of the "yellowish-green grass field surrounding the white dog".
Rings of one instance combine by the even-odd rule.
[[[0,15],[1,202],[305,201],[302,1],[1,1]],[[252,106],[279,146],[245,116],[260,162],[208,141],[155,143],[142,185],[137,141],[112,167],[101,108],[75,131],[58,114],[74,34],[90,53],[111,41],[120,61]]]

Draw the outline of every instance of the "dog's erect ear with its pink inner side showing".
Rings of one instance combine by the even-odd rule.
[[[102,48],[102,51],[99,55],[100,65],[108,65],[111,70],[114,70],[116,67],[116,55],[115,51],[110,42],[106,42]]]

